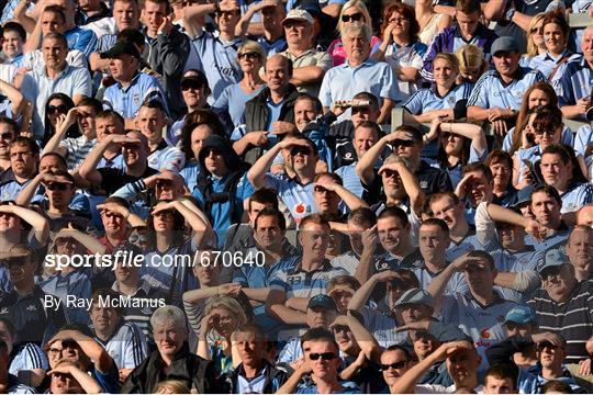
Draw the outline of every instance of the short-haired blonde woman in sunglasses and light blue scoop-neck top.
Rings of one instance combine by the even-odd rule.
[[[243,123],[245,103],[264,89],[265,82],[259,77],[259,69],[266,61],[266,53],[258,43],[246,41],[237,52],[237,61],[243,79],[226,87],[213,105],[214,109],[228,111],[235,126]]]

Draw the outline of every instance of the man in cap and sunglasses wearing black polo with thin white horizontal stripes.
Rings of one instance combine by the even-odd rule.
[[[585,343],[593,336],[593,317],[585,302],[593,294],[590,281],[578,282],[574,267],[560,249],[550,249],[538,264],[541,287],[527,302],[540,327],[567,341],[566,363],[589,359]],[[558,308],[563,314],[558,315]]]

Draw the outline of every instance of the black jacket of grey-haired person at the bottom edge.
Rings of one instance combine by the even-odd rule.
[[[152,394],[157,384],[165,380],[181,380],[190,391],[195,388],[199,394],[219,393],[214,377],[214,364],[192,354],[186,342],[175,356],[168,372],[165,372],[165,362],[157,350],[130,373],[121,393]]]

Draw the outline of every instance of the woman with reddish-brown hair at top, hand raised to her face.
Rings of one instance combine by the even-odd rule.
[[[387,61],[400,84],[400,98],[406,100],[418,90],[416,81],[427,46],[418,41],[419,25],[414,9],[395,2],[385,8],[381,33],[383,41],[372,58]]]

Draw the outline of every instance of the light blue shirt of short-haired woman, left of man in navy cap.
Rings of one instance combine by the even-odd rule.
[[[430,110],[454,109],[455,103],[467,100],[471,93],[471,86],[467,82],[455,84],[445,95],[440,95],[436,88],[424,88],[414,92],[403,104],[409,113],[418,115]]]

